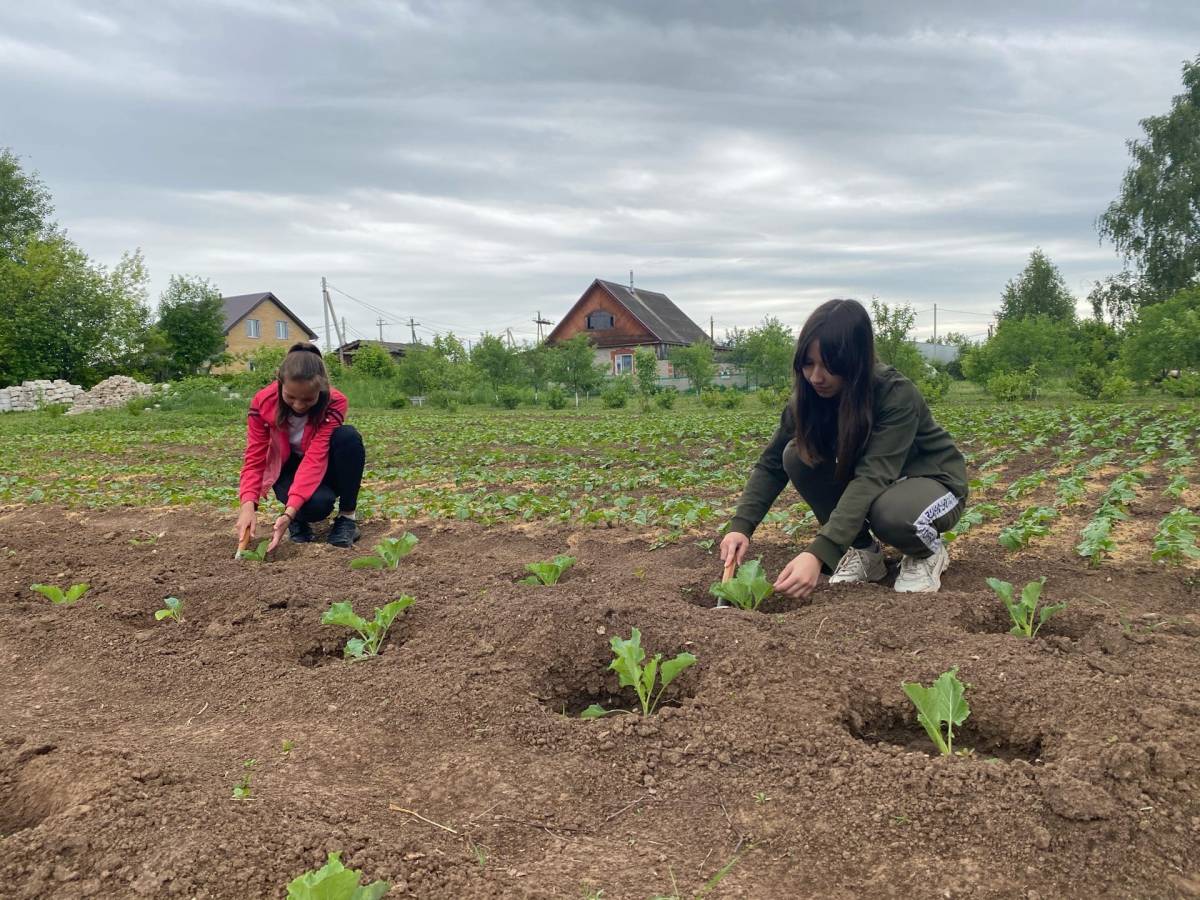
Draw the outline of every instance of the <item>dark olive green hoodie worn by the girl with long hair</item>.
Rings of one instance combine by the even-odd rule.
[[[931,478],[960,499],[967,496],[967,467],[946,428],[938,425],[917,386],[892,366],[876,366],[874,424],[866,446],[854,463],[846,490],[829,521],[805,548],[829,569],[850,547],[866,521],[875,499],[901,478]],[[784,449],[796,437],[788,402],[779,427],[758,462],[730,522],[730,530],[754,534],[770,504],[787,486]]]

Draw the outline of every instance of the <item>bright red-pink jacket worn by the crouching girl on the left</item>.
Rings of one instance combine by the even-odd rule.
[[[242,503],[257,503],[266,497],[278,479],[283,463],[292,456],[287,426],[280,428],[275,424],[278,404],[278,382],[271,382],[250,402],[250,415],[246,416],[246,457],[238,486],[238,497]],[[293,509],[300,509],[320,487],[329,464],[329,439],[334,428],[346,421],[347,408],[346,395],[330,388],[329,403],[322,420],[314,421],[310,416],[305,422],[304,437],[300,439],[304,458],[288,492],[287,505]]]

